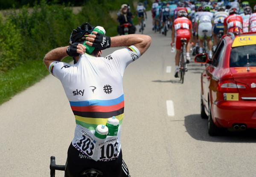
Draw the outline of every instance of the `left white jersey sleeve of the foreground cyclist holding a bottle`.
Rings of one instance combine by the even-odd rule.
[[[67,74],[66,68],[69,68],[70,64],[64,63],[64,62],[59,62],[59,61],[53,61],[49,65],[49,72],[57,77],[59,80],[62,80],[64,75]]]

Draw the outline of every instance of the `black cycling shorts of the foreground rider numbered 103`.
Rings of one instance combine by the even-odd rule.
[[[122,150],[116,160],[100,162],[81,154],[70,144],[67,151],[65,177],[80,177],[82,172],[92,168],[101,171],[103,177],[130,177],[128,168],[122,160]]]

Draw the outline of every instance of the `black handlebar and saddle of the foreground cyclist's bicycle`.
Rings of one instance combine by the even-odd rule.
[[[65,171],[66,166],[56,165],[55,157],[51,157],[50,163],[50,177],[55,177],[55,170]],[[103,177],[102,171],[96,170],[94,168],[87,169],[81,172],[79,177]]]

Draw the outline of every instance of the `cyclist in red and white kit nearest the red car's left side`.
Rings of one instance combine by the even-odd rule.
[[[178,77],[179,73],[179,62],[181,54],[181,38],[186,38],[186,60],[189,63],[189,49],[190,49],[190,39],[192,39],[192,23],[187,18],[188,13],[185,10],[177,11],[177,18],[172,24],[172,43],[171,46],[174,46],[175,43],[175,33],[176,33],[176,55],[175,55],[175,77]],[[187,68],[186,68],[187,71]]]

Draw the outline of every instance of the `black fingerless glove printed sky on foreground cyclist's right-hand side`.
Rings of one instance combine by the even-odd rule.
[[[93,41],[93,47],[99,50],[104,50],[104,49],[110,48],[110,46],[111,46],[110,37],[100,33],[96,34],[96,38]]]

